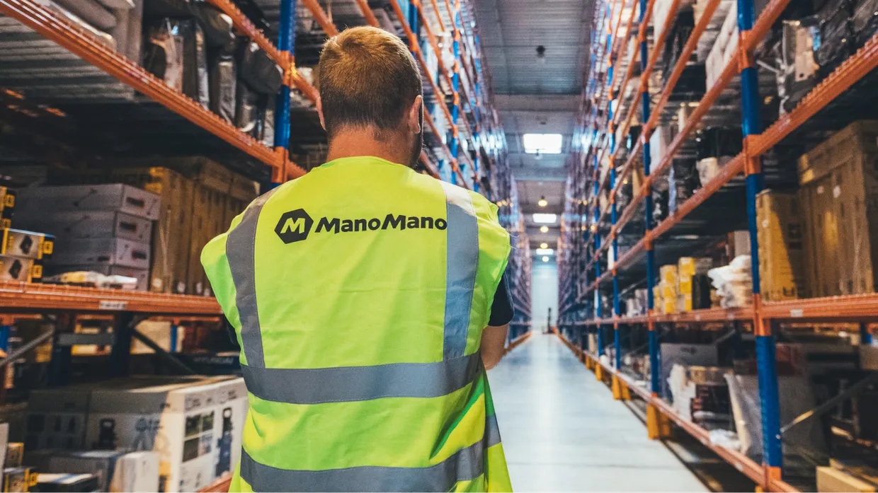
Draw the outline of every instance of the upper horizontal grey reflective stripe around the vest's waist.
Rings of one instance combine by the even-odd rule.
[[[288,404],[369,401],[384,397],[441,397],[481,375],[479,353],[435,363],[371,367],[254,368],[241,365],[255,397]]]

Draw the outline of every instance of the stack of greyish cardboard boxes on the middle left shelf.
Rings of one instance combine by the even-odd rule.
[[[18,191],[16,223],[57,237],[53,273],[125,275],[146,289],[158,211],[158,196],[122,184],[32,187]]]

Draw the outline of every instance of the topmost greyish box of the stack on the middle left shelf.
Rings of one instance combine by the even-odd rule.
[[[155,220],[159,197],[121,183],[30,187],[18,190],[17,207],[31,211],[119,211]]]

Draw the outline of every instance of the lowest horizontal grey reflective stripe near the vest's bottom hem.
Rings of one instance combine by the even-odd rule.
[[[312,471],[272,468],[241,449],[241,479],[254,491],[448,491],[459,481],[483,474],[485,450],[482,440],[427,468],[361,466]]]

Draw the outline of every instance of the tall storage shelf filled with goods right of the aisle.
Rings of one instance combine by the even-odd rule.
[[[572,141],[559,243],[558,329],[587,366],[612,380],[615,397],[633,392],[644,399],[654,438],[662,435],[656,424],[670,419],[764,489],[795,489],[791,483],[813,488],[809,483],[813,478],[793,477],[791,469],[784,468],[781,436],[788,439],[784,435],[788,423],[781,423],[781,417],[790,418],[785,413],[789,410],[781,410],[779,398],[777,339],[782,341],[787,330],[814,330],[816,324],[831,325],[835,328],[831,333],[843,338],[847,332],[839,332],[838,324],[853,324],[859,326],[853,331],[859,332],[853,346],[860,345],[860,354],[872,351],[871,324],[878,322],[874,311],[878,295],[871,292],[871,279],[835,279],[838,286],[812,289],[816,297],[805,297],[809,289],[800,281],[800,267],[784,274],[795,281],[777,294],[770,287],[778,275],[771,270],[778,268],[777,254],[767,249],[767,242],[775,241],[768,228],[776,218],[759,214],[766,207],[764,201],[784,193],[795,204],[795,193],[788,190],[795,192],[798,182],[807,187],[808,173],[814,173],[811,168],[828,166],[814,164],[814,154],[829,152],[825,148],[829,144],[817,144],[830,132],[838,132],[839,137],[833,138],[837,140],[856,132],[843,129],[874,115],[867,89],[874,84],[878,68],[873,12],[874,5],[859,1],[812,5],[789,0],[605,0],[595,5],[590,71]],[[831,15],[842,17],[827,20]],[[820,31],[831,22],[847,26],[843,39]],[[803,47],[803,40],[810,39],[809,29],[823,33],[823,45]],[[832,43],[847,51],[830,49]],[[773,51],[781,45],[788,53],[781,53],[781,48]],[[789,61],[795,56],[800,57],[799,65]],[[720,132],[726,147],[721,154],[726,157],[715,159],[712,168],[710,161],[705,162],[702,169],[708,156],[719,156],[703,154],[703,149]],[[736,133],[737,143],[730,145],[735,139],[729,136]],[[861,139],[874,139],[864,135]],[[854,153],[852,146],[839,146],[834,152]],[[838,155],[836,161],[842,159]],[[698,172],[694,172],[696,162]],[[694,173],[696,185],[687,185],[688,173]],[[871,180],[862,175],[870,171],[859,173],[849,176],[853,187]],[[763,192],[768,189],[772,191]],[[840,190],[834,189],[836,197]],[[668,193],[673,197],[670,201],[663,195]],[[865,193],[874,196],[872,189]],[[799,197],[804,200],[801,192]],[[805,218],[808,212],[794,211],[795,227],[804,222],[807,235],[812,227]],[[868,227],[873,226],[860,225]],[[737,242],[729,234],[736,230],[743,234]],[[795,234],[801,235],[798,231]],[[828,231],[816,234],[838,234],[841,243],[854,240],[846,237],[852,232],[841,226],[833,234]],[[868,234],[853,232],[860,233]],[[781,247],[788,245],[783,243],[788,241],[784,235],[777,239]],[[809,239],[803,241],[806,251],[816,248],[809,247]],[[723,308],[707,299],[707,304],[694,306],[691,298],[678,296],[678,260],[711,252],[722,256],[723,246],[727,252],[745,252],[739,260],[743,267],[736,271],[746,279],[738,284],[745,295],[734,298],[744,302]],[[801,251],[802,241],[797,248]],[[787,261],[787,251],[783,254]],[[735,256],[724,253],[729,260]],[[846,256],[838,261],[845,263]],[[833,268],[810,263],[814,265],[807,267],[818,273]],[[659,270],[668,264],[673,269]],[[868,272],[871,269],[869,261]],[[666,282],[671,273],[676,284]],[[687,279],[692,282],[692,277]],[[667,294],[666,286],[672,284],[677,288]],[[854,284],[869,287],[864,290]],[[689,296],[696,296],[689,284],[686,289]],[[820,297],[821,293],[843,296]],[[669,297],[674,300],[671,304]],[[684,327],[709,339],[723,326],[755,347],[757,411],[763,428],[756,455],[747,456],[710,439],[707,425],[695,423],[664,396],[666,375],[660,373],[664,362],[659,345],[665,341],[661,339],[668,334],[674,337],[675,330]],[[643,368],[635,369],[630,361],[639,357],[641,342],[648,357],[638,363]],[[860,378],[872,375],[867,372],[872,368],[867,358],[852,363],[863,372]],[[834,409],[833,403],[837,407],[832,400],[824,407]],[[813,416],[824,411],[818,406]],[[800,418],[807,421],[812,418],[808,416]]]

